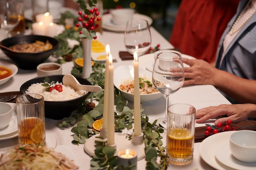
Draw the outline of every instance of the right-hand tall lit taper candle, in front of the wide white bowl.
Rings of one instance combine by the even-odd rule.
[[[139,62],[138,62],[138,55],[135,52],[133,54],[134,62],[134,135],[139,136],[141,135],[141,115],[140,115],[140,96],[139,96]]]

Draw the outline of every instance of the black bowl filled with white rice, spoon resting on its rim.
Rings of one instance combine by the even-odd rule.
[[[63,119],[70,117],[71,113],[82,104],[91,92],[74,91],[74,89],[63,86],[63,91],[56,90],[46,92],[46,87],[42,86],[45,83],[45,77],[49,77],[49,82],[54,81],[54,84],[62,84],[64,75],[47,75],[31,79],[20,87],[20,93],[37,93],[44,96],[45,100],[45,117],[50,119]],[[92,85],[88,80],[76,77],[79,83],[84,85]],[[72,98],[72,99],[71,99]]]

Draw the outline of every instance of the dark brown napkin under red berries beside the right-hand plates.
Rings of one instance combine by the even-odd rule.
[[[236,128],[236,130],[254,130],[254,131],[256,131],[256,121],[253,121],[253,120],[240,121],[238,123],[231,124],[231,126],[238,127],[238,128]],[[254,127],[248,127],[248,126],[254,126]],[[243,129],[245,127],[248,127],[248,128]],[[206,130],[206,126],[195,128],[195,142],[201,142],[205,138],[209,137],[209,136],[204,135],[205,130]]]

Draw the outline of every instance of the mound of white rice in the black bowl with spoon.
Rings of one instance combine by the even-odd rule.
[[[25,93],[36,93],[39,95],[42,95],[44,97],[45,101],[63,101],[63,100],[70,100],[70,99],[75,99],[78,97],[81,97],[88,93],[87,91],[75,91],[73,88],[70,86],[64,86],[62,83],[56,82],[56,84],[61,84],[62,85],[62,92],[58,92],[57,90],[53,90],[51,92],[45,91],[47,87],[42,86],[44,83],[36,83],[36,84],[31,84],[27,91]],[[52,86],[55,86],[56,84],[52,84]]]

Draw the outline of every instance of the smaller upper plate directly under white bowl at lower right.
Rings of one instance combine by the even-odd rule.
[[[236,170],[255,170],[256,162],[246,163],[239,161],[236,159],[230,149],[229,149],[229,141],[224,141],[219,144],[215,150],[215,157],[218,161],[230,168],[234,168]]]

